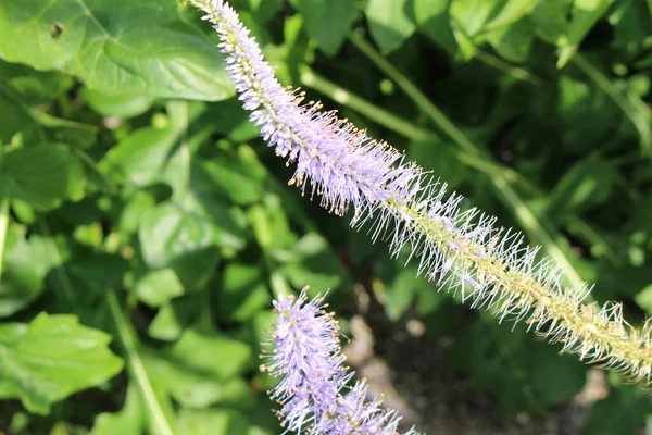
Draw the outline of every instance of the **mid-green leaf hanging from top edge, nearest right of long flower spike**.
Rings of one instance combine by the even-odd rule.
[[[328,55],[340,49],[355,18],[356,0],[299,0],[308,35]]]

